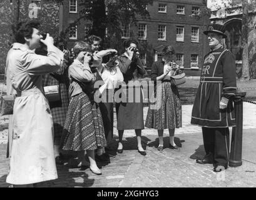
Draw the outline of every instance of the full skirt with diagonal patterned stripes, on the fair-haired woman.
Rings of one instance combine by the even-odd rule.
[[[84,93],[71,98],[61,136],[61,149],[95,150],[106,146],[100,107]]]

